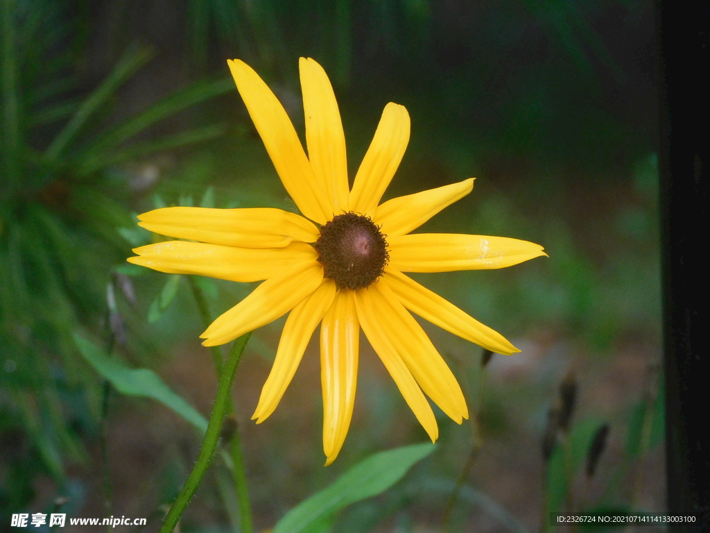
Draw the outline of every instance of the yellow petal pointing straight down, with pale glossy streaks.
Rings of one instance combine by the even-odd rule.
[[[355,404],[360,323],[354,292],[342,289],[320,326],[320,380],[323,388],[323,451],[329,465],[348,434]]]

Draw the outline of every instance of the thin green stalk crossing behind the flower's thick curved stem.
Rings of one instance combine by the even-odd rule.
[[[204,297],[204,292],[197,284],[195,276],[187,276],[190,281],[190,289],[192,295],[195,296],[197,308],[200,309],[200,316],[204,327],[207,328],[212,323],[212,316],[209,314],[209,306],[207,298]],[[214,368],[217,370],[217,377],[222,373],[222,351],[219,346],[210,347],[212,352],[212,360],[214,360]],[[234,412],[234,405],[231,403],[231,398],[227,399],[226,413]],[[234,479],[234,488],[236,496],[239,500],[239,518],[241,520],[241,533],[251,533],[251,504],[249,502],[249,490],[246,485],[246,474],[244,469],[244,452],[241,449],[241,439],[239,438],[239,428],[234,429],[234,434],[230,441],[232,468],[231,475]]]

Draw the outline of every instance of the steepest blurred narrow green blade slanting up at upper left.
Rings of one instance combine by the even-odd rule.
[[[54,141],[45,152],[45,156],[50,161],[57,159],[62,151],[74,139],[75,135],[80,131],[87,120],[96,112],[109,97],[114,94],[116,89],[131,77],[136,70],[141,68],[153,55],[153,52],[148,48],[129,48],[123,58],[116,64],[114,70],[111,70],[109,76],[102,82],[101,85],[92,92],[89,97],[84,100],[84,103],[77,109],[72,119],[67,122],[62,131],[55,137]]]

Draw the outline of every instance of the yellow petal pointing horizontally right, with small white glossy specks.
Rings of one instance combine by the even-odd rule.
[[[502,269],[547,255],[540,244],[508,237],[415,233],[388,237],[390,266],[403,272]]]

